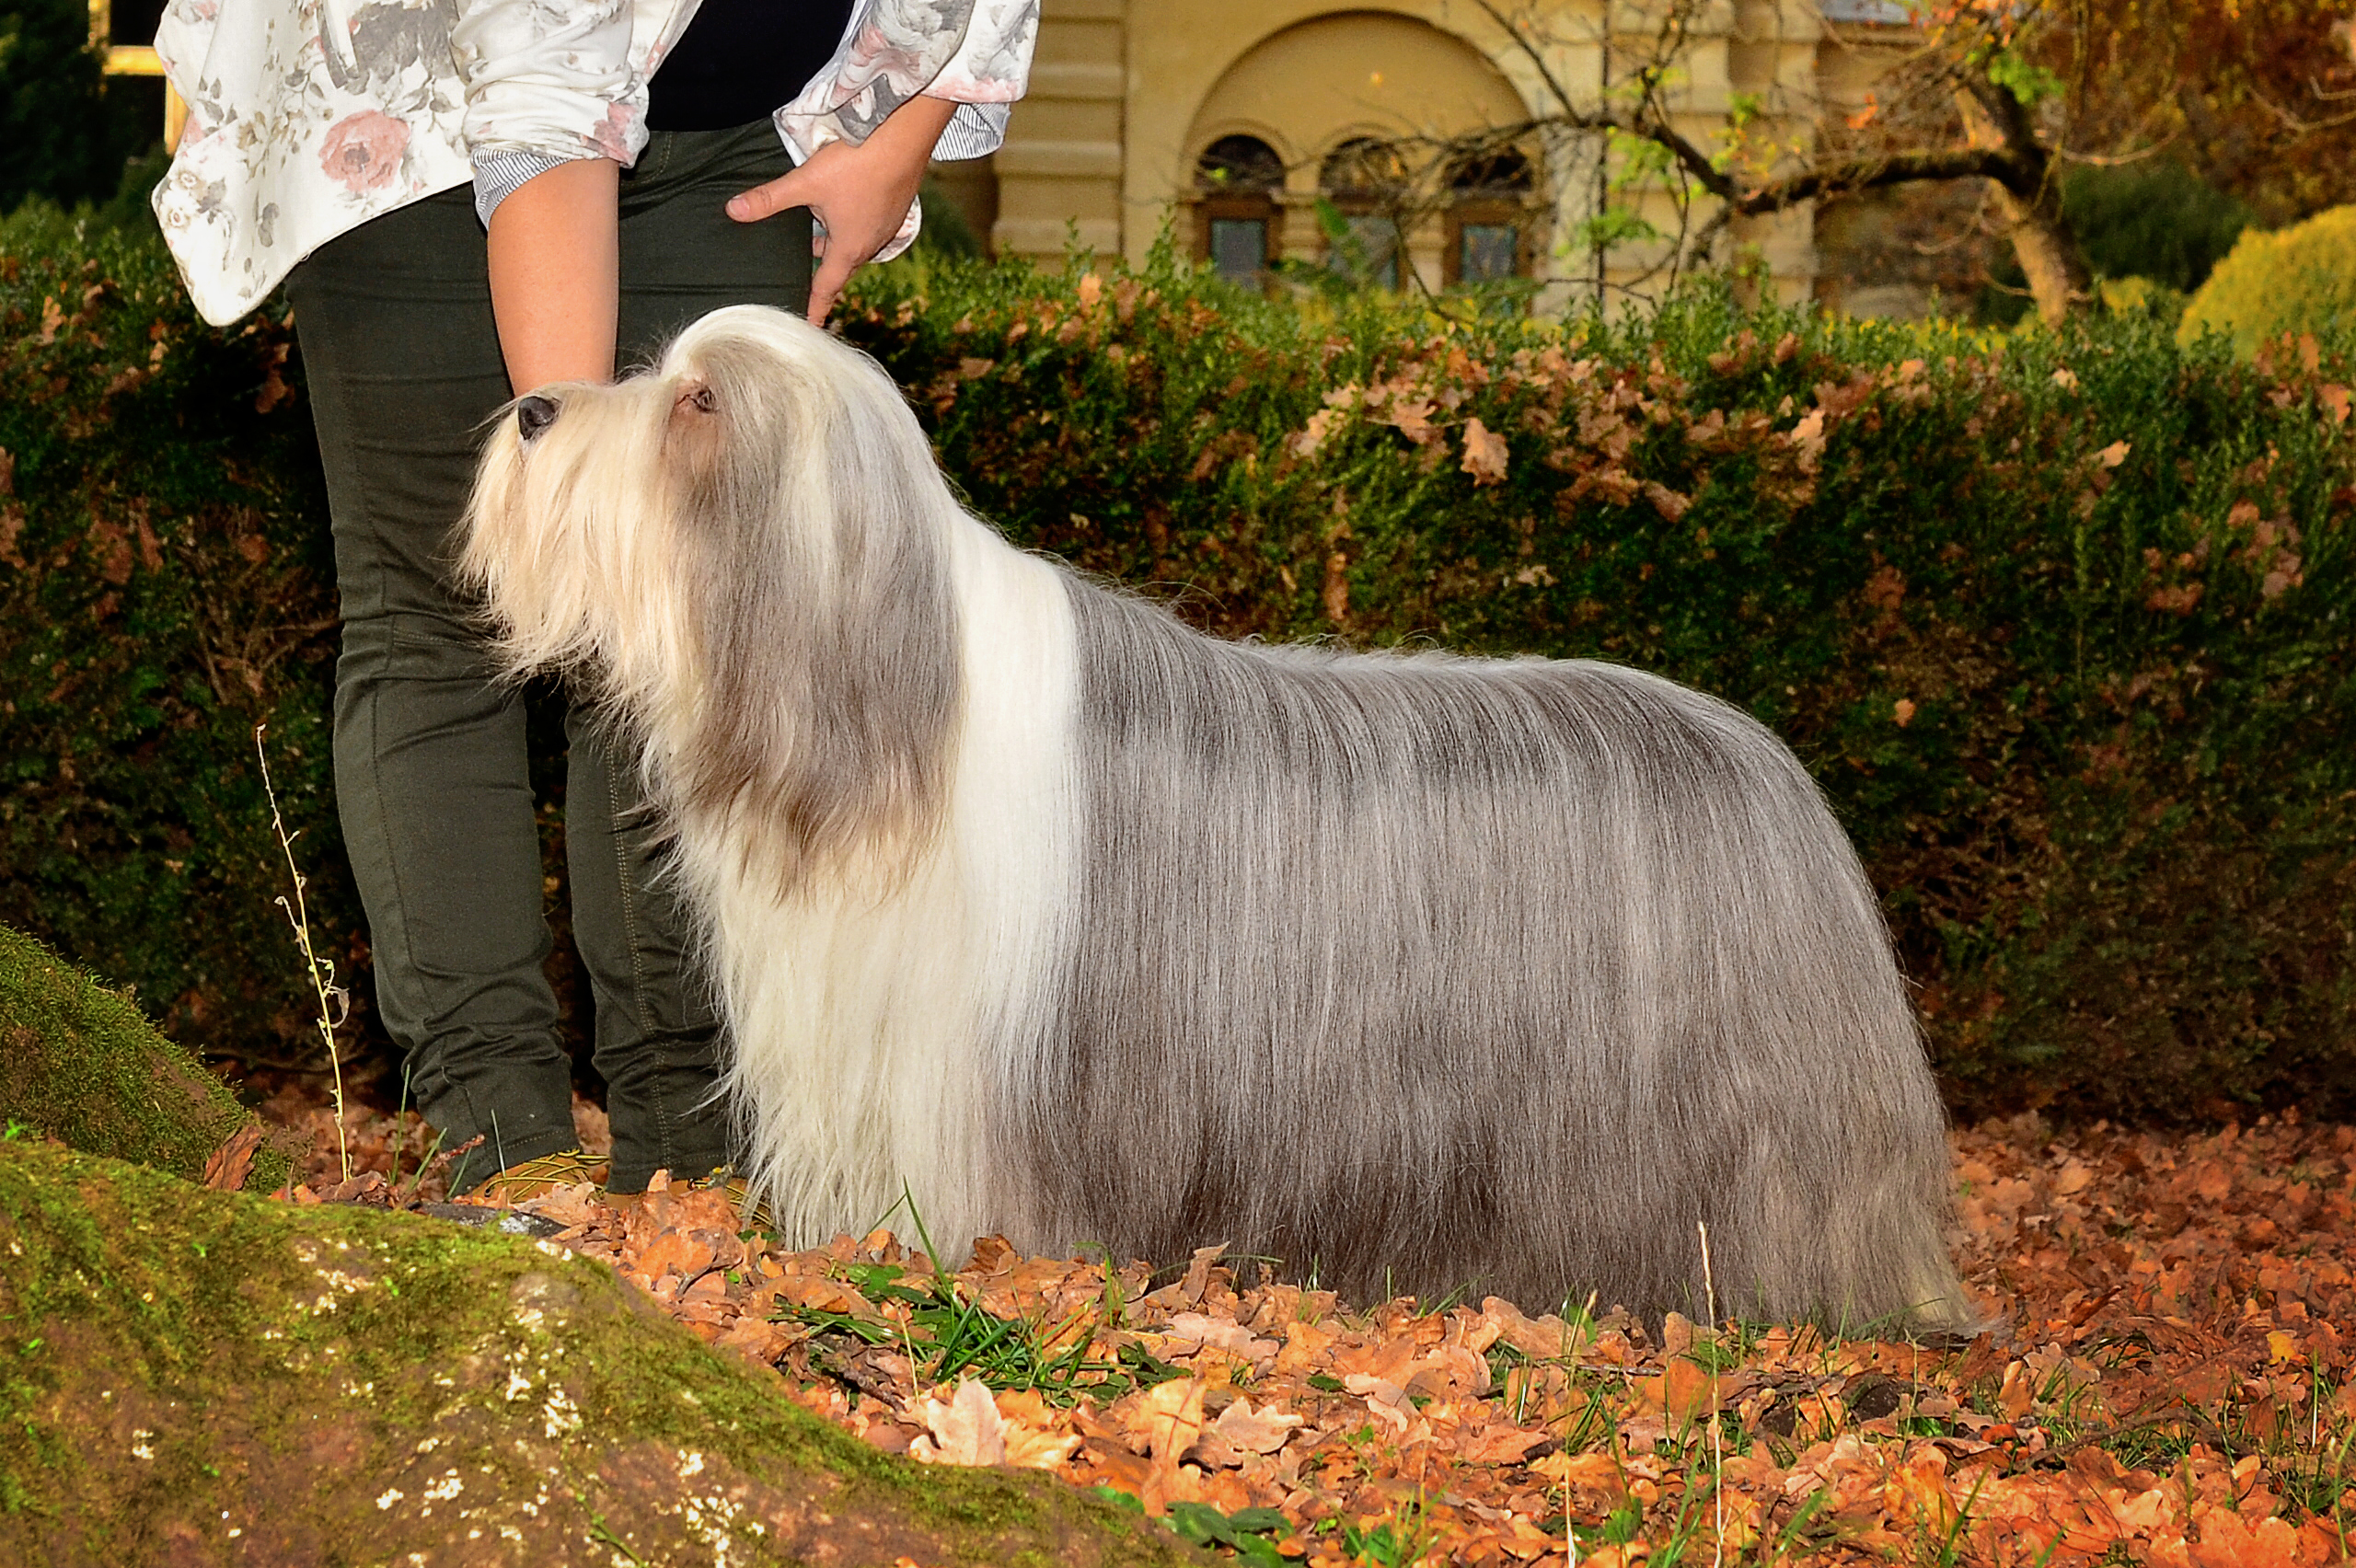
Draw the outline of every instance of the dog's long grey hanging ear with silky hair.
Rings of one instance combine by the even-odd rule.
[[[761,852],[794,878],[931,838],[961,690],[949,544],[964,518],[865,356],[728,348],[700,356],[709,407],[686,391],[671,405],[723,443],[690,499],[688,532],[712,551],[709,723],[681,784],[702,810],[759,822]]]

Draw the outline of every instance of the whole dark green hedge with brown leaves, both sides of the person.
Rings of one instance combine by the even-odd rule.
[[[73,325],[45,339],[42,301]],[[294,975],[254,713],[313,862],[332,841],[318,480],[271,391],[299,367],[276,318],[198,330],[137,247],[12,250],[0,304],[0,921],[172,1029],[266,1026]],[[872,268],[843,330],[982,516],[1204,629],[1621,659],[1748,706],[1854,833],[1960,1114],[2356,1114],[2340,344],[1725,290],[1548,325],[1265,301],[1169,254]],[[231,629],[276,657],[207,678]]]

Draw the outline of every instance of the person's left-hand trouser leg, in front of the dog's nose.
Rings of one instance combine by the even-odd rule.
[[[507,396],[469,191],[389,212],[287,278],[335,523],[335,791],[410,1095],[471,1184],[570,1149],[542,961],[523,702],[452,596],[481,424]]]

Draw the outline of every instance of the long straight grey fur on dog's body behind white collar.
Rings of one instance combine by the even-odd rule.
[[[1046,1234],[1699,1318],[1708,1222],[1720,1311],[1970,1323],[1880,909],[1769,730],[1609,664],[1070,598],[1077,946],[1006,1102]]]

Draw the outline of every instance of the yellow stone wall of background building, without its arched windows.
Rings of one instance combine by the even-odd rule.
[[[1725,137],[1736,94],[1753,104],[1753,148],[1805,148],[1828,106],[1861,101],[1878,66],[1873,28],[1828,26],[1819,0],[1713,0],[1692,28],[1685,71],[1673,89],[1677,125],[1703,146]],[[1202,148],[1225,134],[1251,134],[1286,162],[1275,224],[1277,252],[1312,259],[1322,235],[1310,214],[1317,165],[1350,137],[1447,137],[1548,115],[1550,73],[1567,92],[1602,89],[1607,0],[1501,0],[1541,35],[1546,71],[1520,49],[1482,5],[1468,0],[1046,0],[1030,97],[1015,111],[1006,146],[992,160],[994,212],[968,195],[999,254],[1060,261],[1077,240],[1098,254],[1145,257],[1164,221],[1178,219],[1178,242],[1192,247],[1185,202]],[[1642,52],[1659,28],[1656,0],[1609,7],[1614,57]],[[1623,66],[1626,68],[1626,66]],[[1534,271],[1555,294],[1595,290],[1595,257],[1567,235],[1595,210],[1597,141],[1564,137],[1543,151],[1534,217],[1543,240]],[[1675,231],[1666,191],[1612,198],[1635,207],[1663,233]],[[1708,205],[1696,207],[1706,217]],[[985,217],[987,214],[987,217]],[[990,221],[994,219],[994,221]],[[1755,257],[1783,299],[1819,292],[1814,212],[1736,221],[1732,245]],[[1652,271],[1670,245],[1621,245],[1609,252],[1607,297],[1649,292]],[[1425,283],[1440,283],[1440,231],[1425,226],[1407,247]],[[1720,245],[1720,257],[1727,250]],[[1649,280],[1647,280],[1647,273]]]

